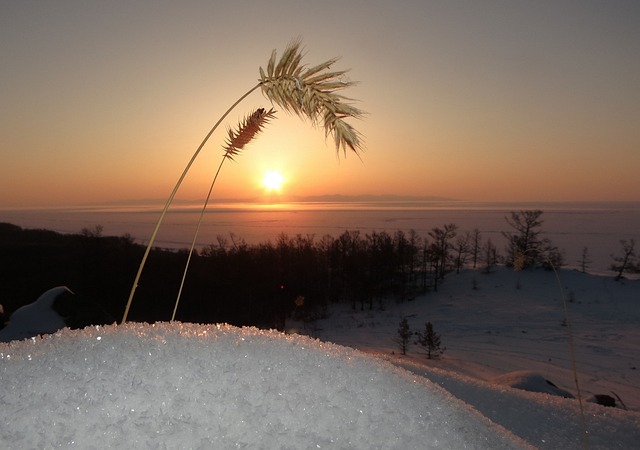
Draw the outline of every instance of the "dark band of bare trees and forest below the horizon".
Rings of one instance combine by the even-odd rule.
[[[506,217],[504,255],[478,229],[460,232],[455,224],[427,236],[348,230],[337,237],[281,234],[256,245],[218,237],[193,255],[176,319],[282,329],[289,317],[321,317],[333,302],[364,310],[410,300],[436,291],[448,273],[464,267],[558,268],[562,253],[542,237],[541,216],[536,210]],[[100,226],[64,235],[11,224],[0,224],[0,249],[0,303],[7,315],[66,285],[96,305],[103,323],[120,320],[144,252],[129,235],[102,236]],[[186,258],[186,250],[152,250],[129,320],[170,319]]]

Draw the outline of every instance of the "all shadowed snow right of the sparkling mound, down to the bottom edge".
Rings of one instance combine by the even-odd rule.
[[[427,377],[536,447],[581,448],[586,429],[590,448],[634,448],[640,442],[640,280],[569,270],[559,279],[562,294],[553,272],[468,270],[413,301],[372,311],[337,305],[327,319],[299,328]],[[402,317],[415,331],[432,322],[447,348],[441,359],[427,360],[418,345],[399,354],[394,338]],[[578,400],[513,389],[501,380],[530,382],[523,374],[533,372],[577,396],[569,331],[587,400],[584,424]],[[518,371],[524,372],[516,380]],[[617,397],[618,408],[593,404],[596,394],[617,395],[624,405]]]

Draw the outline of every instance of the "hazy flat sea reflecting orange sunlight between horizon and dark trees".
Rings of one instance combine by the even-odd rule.
[[[104,236],[130,235],[147,244],[160,217],[162,204],[90,205],[65,208],[0,209],[0,222],[23,228],[78,233],[100,227]],[[513,231],[506,217],[511,211],[543,211],[542,236],[559,247],[568,267],[578,268],[587,249],[587,270],[611,274],[612,255],[621,253],[621,240],[640,245],[640,202],[467,202],[467,201],[338,201],[255,204],[218,202],[208,205],[196,238],[196,248],[244,240],[259,244],[283,233],[338,237],[346,230],[362,235],[372,231],[394,233],[415,230],[428,238],[435,227],[458,226],[458,233],[478,229],[504,250],[503,232]],[[202,205],[172,206],[165,216],[154,246],[188,248],[196,232]],[[638,248],[640,253],[640,248]]]

